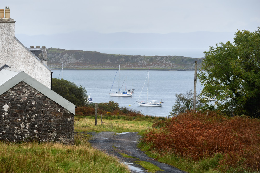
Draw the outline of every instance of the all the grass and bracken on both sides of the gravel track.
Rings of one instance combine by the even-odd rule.
[[[139,147],[149,157],[187,172],[260,170],[259,119],[227,117],[214,111],[188,111],[167,119],[109,102],[99,103],[95,126],[93,105],[76,109],[75,146],[0,142],[0,172],[129,172],[118,159],[90,146],[87,140],[91,135],[86,132],[93,130],[140,132]],[[158,170],[149,165],[146,169]]]

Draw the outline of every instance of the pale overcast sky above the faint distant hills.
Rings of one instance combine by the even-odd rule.
[[[15,33],[51,35],[75,31],[189,33],[254,31],[259,0],[0,0],[10,7]]]

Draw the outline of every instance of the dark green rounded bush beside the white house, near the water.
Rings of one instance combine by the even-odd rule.
[[[83,86],[65,79],[52,79],[52,90],[76,106],[84,106],[87,102],[87,90]]]

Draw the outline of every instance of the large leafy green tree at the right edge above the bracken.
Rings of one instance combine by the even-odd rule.
[[[223,113],[260,117],[260,27],[237,31],[233,44],[216,44],[205,51],[199,81],[202,95],[216,96]]]

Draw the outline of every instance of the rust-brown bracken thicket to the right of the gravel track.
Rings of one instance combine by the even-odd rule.
[[[159,121],[142,141],[151,149],[194,160],[215,156],[212,165],[260,170],[260,121],[217,112],[186,112]],[[216,155],[217,154],[217,155]]]

